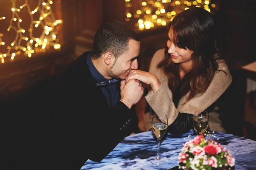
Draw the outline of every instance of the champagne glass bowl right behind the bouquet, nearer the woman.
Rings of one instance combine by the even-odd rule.
[[[195,111],[193,116],[193,126],[195,133],[201,135],[209,125],[209,113],[207,111]]]

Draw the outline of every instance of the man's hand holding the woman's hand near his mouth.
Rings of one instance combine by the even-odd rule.
[[[128,108],[131,109],[132,105],[139,102],[140,98],[144,93],[144,88],[139,80],[130,79],[128,82],[126,80],[121,81],[120,86],[120,101],[123,102]]]

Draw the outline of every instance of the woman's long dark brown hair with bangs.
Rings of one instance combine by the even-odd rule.
[[[194,51],[192,53],[192,69],[183,77],[183,84],[180,85],[180,64],[172,62],[167,47],[165,57],[157,65],[157,68],[163,69],[168,77],[168,86],[173,93],[179,85],[180,97],[190,91],[186,98],[187,102],[196,94],[204,93],[207,90],[218,69],[216,59],[220,59],[220,57],[215,57],[217,48],[214,20],[205,9],[190,8],[175,16],[170,22],[170,29],[173,33],[172,43],[175,46]]]

